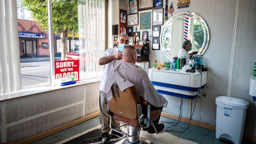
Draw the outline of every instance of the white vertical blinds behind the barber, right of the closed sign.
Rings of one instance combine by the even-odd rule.
[[[82,2],[82,0],[81,0]],[[78,28],[79,33],[84,33],[83,46],[84,72],[80,73],[80,79],[101,77],[103,66],[98,65],[100,57],[104,54],[105,44],[105,2],[104,0],[88,0],[80,4],[78,0]]]

